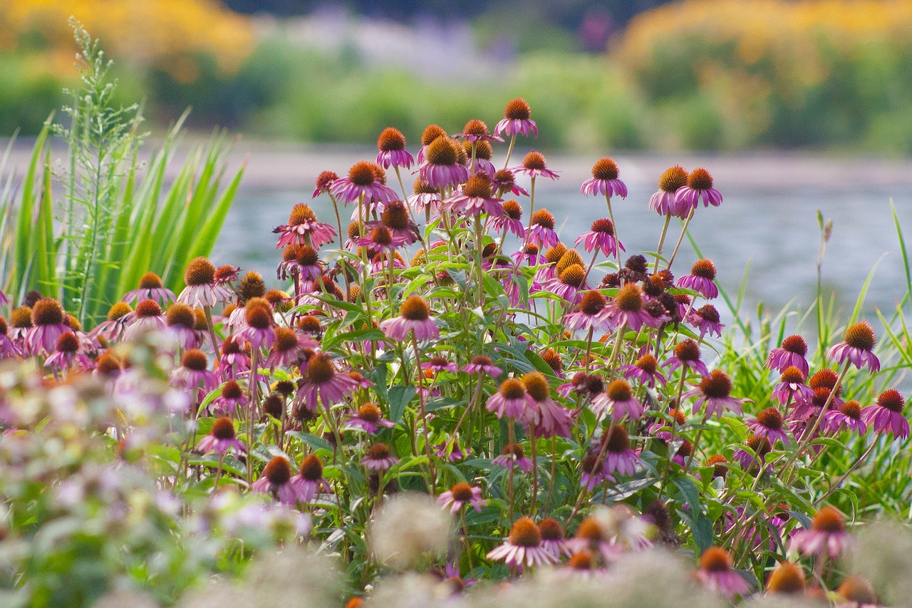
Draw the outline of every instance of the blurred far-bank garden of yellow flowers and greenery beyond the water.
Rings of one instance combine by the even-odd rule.
[[[523,95],[550,148],[912,152],[912,0],[3,0],[0,134],[64,101],[70,15],[153,125],[414,141]]]

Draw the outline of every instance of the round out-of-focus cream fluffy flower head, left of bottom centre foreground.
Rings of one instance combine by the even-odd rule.
[[[446,550],[451,516],[433,498],[405,493],[390,498],[368,529],[374,555],[394,570],[418,570],[425,556]]]

